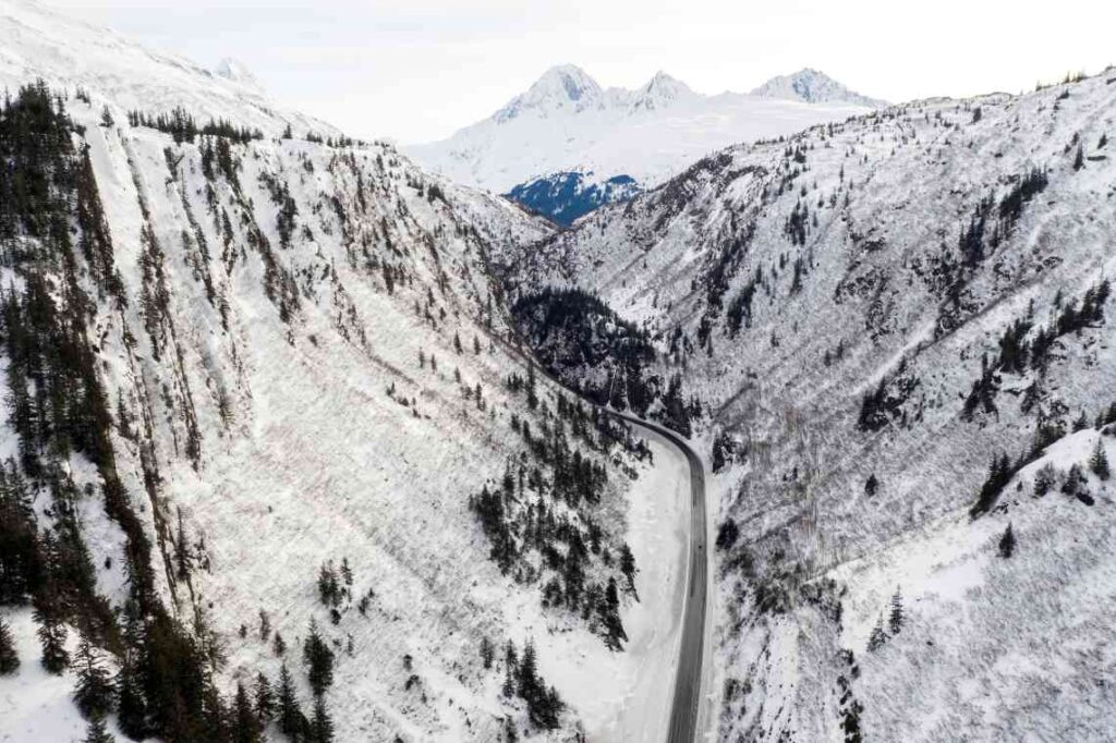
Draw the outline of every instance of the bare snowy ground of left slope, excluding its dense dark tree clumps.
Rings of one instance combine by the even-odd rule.
[[[39,77],[55,86],[76,125],[75,152],[88,153],[118,284],[80,252],[76,280],[90,298],[83,342],[112,408],[113,466],[154,546],[158,601],[187,628],[203,619],[223,648],[221,694],[231,696],[238,681],[250,686],[259,672],[276,679],[272,639],[281,633],[309,712],[300,656],[315,618],[337,655],[326,698],[339,741],[492,741],[510,727],[573,740],[581,728],[622,724],[612,710],[646,688],[641,665],[668,663],[673,601],[645,581],[677,581],[676,550],[656,549],[676,540],[677,523],[658,517],[670,503],[648,513],[629,491],[674,491],[651,492],[651,465],[622,448],[595,450],[605,444],[591,443],[591,430],[562,435],[602,465],[599,502],[565,504],[530,490],[548,490],[546,481],[526,491],[567,525],[595,523],[612,554],[631,546],[646,599],[622,599],[629,653],[608,650],[591,623],[541,600],[549,573],[537,557],[539,577],[501,573],[470,509],[482,485],[532,462],[519,421],[536,435],[565,432],[548,383],[539,383],[537,408],[508,385],[528,372],[502,342],[508,322],[489,269],[490,255],[551,228],[429,175],[388,145],[299,138],[299,126],[329,129],[275,112],[233,65],[213,77],[38,6],[6,1],[0,11],[0,79],[13,96]],[[182,106],[268,134],[291,123],[296,137],[227,151],[219,137],[175,142],[131,126],[125,112],[136,106]],[[70,206],[62,200],[59,209]],[[88,223],[71,221],[75,244],[85,245]],[[0,243],[6,261],[47,254],[25,234]],[[6,293],[36,271],[57,286],[68,276],[47,259],[4,263]],[[4,457],[22,451],[8,416],[0,446]],[[86,456],[70,451],[60,466],[79,491],[89,486],[76,505],[80,532],[96,590],[118,610],[129,592],[127,537],[106,515],[99,471]],[[49,489],[35,490],[41,530],[56,528],[57,508]],[[335,617],[319,599],[319,569],[343,560],[353,583]],[[587,577],[616,570],[591,557]],[[0,611],[22,660],[18,674],[0,677],[0,702],[17,713],[2,716],[0,737],[84,731],[68,698],[73,674],[38,667],[29,609]],[[491,668],[482,639],[498,650]],[[568,705],[552,731],[539,731],[523,701],[501,693],[503,644],[522,650],[531,639],[542,678]],[[658,692],[668,688],[668,674],[656,678]],[[283,740],[273,724],[267,734]]]

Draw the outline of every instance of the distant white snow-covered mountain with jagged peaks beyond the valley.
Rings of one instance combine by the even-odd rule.
[[[709,153],[865,112],[863,103],[722,93],[706,96],[658,73],[627,90],[584,70],[547,70],[489,118],[405,152],[453,181],[504,193],[552,173],[628,175],[655,186]]]

